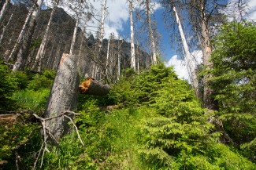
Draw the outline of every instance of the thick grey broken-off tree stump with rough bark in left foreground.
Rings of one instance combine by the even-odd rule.
[[[76,109],[79,76],[76,56],[63,54],[45,111],[45,118],[58,116],[65,110]],[[60,117],[46,122],[56,139],[69,132],[68,119]]]

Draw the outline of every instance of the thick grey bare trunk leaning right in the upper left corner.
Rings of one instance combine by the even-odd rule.
[[[32,36],[35,31],[35,26],[36,26],[36,18],[39,14],[39,11],[41,9],[41,5],[43,4],[43,0],[38,0],[35,5],[33,5],[33,13],[32,17],[29,21],[28,24],[28,31],[24,32],[24,39],[22,41],[22,45],[20,47],[20,50],[17,54],[17,61],[13,65],[13,71],[19,71],[23,70],[25,63],[28,58],[28,51],[29,51],[29,46],[32,42]],[[29,15],[29,14],[28,14]]]

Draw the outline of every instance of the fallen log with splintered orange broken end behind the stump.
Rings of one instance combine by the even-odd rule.
[[[104,96],[109,93],[111,85],[104,85],[102,81],[96,81],[94,78],[87,78],[79,86],[79,92],[89,95]]]

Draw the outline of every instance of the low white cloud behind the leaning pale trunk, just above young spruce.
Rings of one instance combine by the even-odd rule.
[[[196,65],[202,63],[202,51],[195,50],[194,52],[191,52],[191,54],[192,56],[194,56],[193,67],[195,68]],[[186,63],[184,60],[179,60],[177,55],[172,56],[171,59],[167,63],[165,63],[165,66],[167,67],[173,66],[174,71],[178,75],[178,78],[183,78],[188,82],[190,82]]]

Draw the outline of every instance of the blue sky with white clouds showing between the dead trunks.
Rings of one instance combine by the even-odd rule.
[[[102,0],[89,0],[91,4],[95,7],[96,13],[98,13],[98,16],[101,16],[101,2]],[[135,1],[135,0],[134,0]],[[184,62],[180,60],[180,58],[183,58],[182,56],[177,55],[177,45],[176,42],[173,42],[173,39],[169,38],[169,34],[171,34],[170,30],[165,30],[164,20],[163,20],[163,12],[164,9],[161,7],[161,5],[157,2],[157,0],[152,0],[155,3],[154,7],[154,18],[153,20],[156,20],[158,25],[158,32],[161,34],[161,54],[163,56],[163,59],[165,60],[165,63],[167,66],[174,66],[174,69],[176,71],[176,74],[179,75],[180,78],[187,79],[186,74],[186,67],[184,66]],[[220,0],[221,1],[221,0]],[[226,0],[225,0],[226,1]],[[238,0],[227,0],[228,2],[232,1],[238,1]],[[50,2],[50,0],[48,0]],[[231,3],[231,5],[234,5]],[[114,33],[116,36],[118,34],[121,34],[122,38],[126,38],[127,41],[130,39],[130,19],[129,19],[129,9],[128,9],[128,2],[127,0],[107,0],[107,10],[108,15],[105,22],[105,37],[108,38],[110,33]],[[136,5],[134,5],[136,6]],[[64,7],[65,8],[65,7]],[[256,1],[250,0],[248,2],[248,15],[247,19],[249,20],[255,20],[256,19]],[[233,13],[236,16],[236,9],[233,11]],[[135,17],[134,17],[134,24],[135,28],[138,23],[136,23]],[[87,32],[90,29],[92,33],[95,33],[97,31],[98,22],[89,22],[87,25],[94,26],[94,27],[87,27]],[[183,26],[187,28],[186,26]],[[188,29],[187,29],[188,30]],[[136,30],[135,30],[136,31]],[[186,31],[185,31],[186,32]],[[145,42],[143,39],[145,36],[142,33],[137,33],[141,36],[140,42],[142,42],[142,45],[150,46],[149,43]],[[179,33],[176,33],[179,36]],[[188,35],[186,34],[186,37]],[[188,37],[187,37],[188,38]],[[173,45],[171,45],[171,43]],[[202,52],[200,52],[198,49],[194,49],[195,51],[191,51],[195,55],[197,55],[198,59],[201,59]],[[182,52],[180,52],[182,53]],[[198,63],[201,61],[198,60]]]

